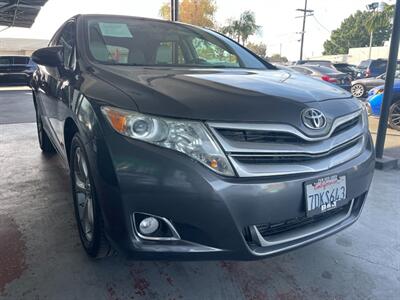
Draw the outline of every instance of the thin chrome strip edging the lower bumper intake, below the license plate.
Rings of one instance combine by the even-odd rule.
[[[258,242],[258,244],[261,247],[271,247],[271,246],[276,246],[276,245],[280,245],[280,244],[285,244],[285,243],[290,243],[299,239],[303,239],[306,237],[309,237],[311,235],[315,235],[318,234],[322,231],[328,230],[338,224],[340,224],[341,222],[345,221],[346,219],[348,219],[352,213],[353,210],[353,205],[354,205],[354,199],[351,200],[350,203],[350,207],[349,210],[347,211],[347,213],[343,216],[342,215],[338,215],[338,216],[334,216],[336,218],[333,218],[331,220],[321,220],[319,222],[313,223],[312,225],[305,225],[304,227],[299,227],[297,229],[293,229],[291,231],[282,233],[280,235],[280,238],[277,238],[275,240],[266,240],[260,233],[260,231],[258,230],[256,225],[253,225],[250,227],[250,232],[252,233],[252,237],[256,239],[256,242]],[[325,221],[325,222],[324,222]],[[313,226],[315,228],[313,228],[312,230],[308,231],[307,227]]]

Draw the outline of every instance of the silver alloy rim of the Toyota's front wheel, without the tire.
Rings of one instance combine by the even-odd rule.
[[[80,147],[75,149],[74,185],[79,222],[85,239],[91,242],[94,232],[93,193],[89,179],[89,169]]]

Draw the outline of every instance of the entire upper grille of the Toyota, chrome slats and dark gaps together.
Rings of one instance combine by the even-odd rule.
[[[325,136],[307,136],[287,124],[208,126],[240,177],[324,171],[356,157],[366,143],[361,110],[335,119]]]

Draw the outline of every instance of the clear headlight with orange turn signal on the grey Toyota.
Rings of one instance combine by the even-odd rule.
[[[101,111],[122,135],[182,152],[219,174],[235,175],[224,152],[201,122],[154,117],[108,106]]]

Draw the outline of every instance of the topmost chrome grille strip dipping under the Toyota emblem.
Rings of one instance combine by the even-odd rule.
[[[305,141],[315,142],[315,141],[321,141],[321,140],[328,139],[337,127],[360,116],[361,113],[362,113],[362,109],[360,109],[354,113],[336,118],[333,121],[333,124],[332,124],[329,132],[326,135],[321,136],[321,137],[307,136],[304,133],[302,133],[300,130],[298,130],[297,128],[295,128],[289,124],[219,123],[219,122],[207,122],[207,124],[211,128],[213,134],[215,134],[216,136],[218,136],[220,138],[221,138],[221,135],[218,134],[216,129],[238,129],[238,130],[286,132],[286,133],[291,133],[291,134],[297,135],[298,137],[302,138]]]

